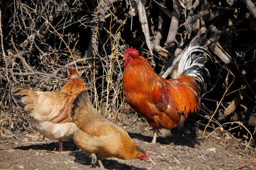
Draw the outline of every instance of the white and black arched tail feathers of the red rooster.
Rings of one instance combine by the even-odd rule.
[[[203,56],[203,53],[206,56]],[[206,49],[201,46],[189,46],[189,48],[184,52],[178,67],[174,70],[172,75],[173,78],[178,78],[181,75],[188,75],[197,78],[206,90],[206,85],[202,77],[202,72],[210,76],[209,70],[204,67],[204,63],[209,60],[211,54]]]

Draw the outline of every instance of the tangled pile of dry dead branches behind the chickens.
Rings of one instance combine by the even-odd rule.
[[[195,121],[252,141],[256,127],[256,4],[251,0],[5,0],[0,3],[0,135],[27,128],[12,86],[58,91],[76,68],[102,115],[133,112],[121,91],[123,53],[136,48],[167,78],[193,43],[209,48],[208,91]],[[232,126],[225,123],[235,122]],[[228,127],[228,128],[227,128]],[[223,129],[221,129],[223,128]],[[220,130],[218,130],[220,129]],[[247,130],[248,129],[248,130]],[[250,134],[249,134],[250,133]]]

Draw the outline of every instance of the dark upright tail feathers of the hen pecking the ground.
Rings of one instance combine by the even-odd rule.
[[[73,113],[72,116],[76,110],[76,108],[81,108],[82,106],[87,106],[90,107],[91,105],[91,101],[90,101],[90,97],[87,93],[87,91],[83,90],[82,92],[80,92],[78,94],[78,96],[75,98],[74,102],[73,102]]]

